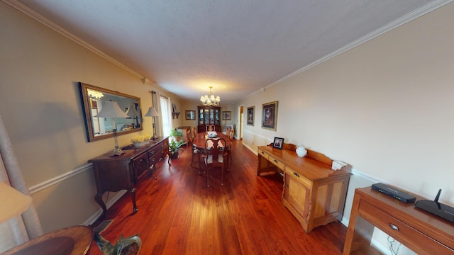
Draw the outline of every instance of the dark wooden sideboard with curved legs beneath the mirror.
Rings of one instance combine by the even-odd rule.
[[[156,163],[164,159],[167,154],[169,154],[168,137],[157,137],[142,147],[133,147],[133,145],[124,147],[123,154],[120,156],[110,157],[109,154],[103,154],[90,159],[88,162],[93,164],[97,191],[94,200],[103,210],[101,217],[106,215],[107,210],[102,200],[102,195],[106,191],[128,190],[133,200],[133,213],[137,212],[135,183],[138,183],[146,170],[151,176]]]

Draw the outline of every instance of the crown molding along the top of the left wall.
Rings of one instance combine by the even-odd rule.
[[[45,26],[48,26],[48,28],[55,30],[57,33],[60,33],[61,35],[64,35],[66,38],[69,38],[70,40],[81,45],[82,47],[85,47],[87,50],[94,52],[96,55],[103,57],[104,59],[115,64],[118,67],[121,67],[121,69],[124,69],[124,70],[126,70],[126,72],[133,74],[135,77],[143,79],[143,75],[140,75],[140,74],[138,74],[138,72],[135,72],[133,69],[126,67],[126,65],[121,64],[121,62],[118,62],[113,57],[110,57],[106,53],[101,52],[101,50],[96,49],[96,47],[89,45],[89,43],[78,38],[76,35],[73,35],[68,30],[65,30],[65,28],[58,26],[56,23],[50,21],[50,19],[45,18],[40,13],[37,13],[30,7],[26,6],[25,4],[22,4],[21,1],[18,1],[18,0],[2,0],[2,1],[4,1],[5,4],[8,4],[9,6],[15,8],[16,10],[21,11],[21,13],[26,14],[26,16],[33,18],[35,21],[38,21]]]

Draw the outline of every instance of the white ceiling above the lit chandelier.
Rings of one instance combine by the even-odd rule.
[[[14,0],[4,0],[13,2]],[[442,1],[443,2],[443,1]],[[19,0],[185,101],[236,102],[437,0]],[[57,28],[61,29],[61,28]]]

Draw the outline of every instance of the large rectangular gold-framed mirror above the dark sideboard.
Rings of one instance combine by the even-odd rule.
[[[79,82],[79,89],[89,142],[114,137],[111,118],[94,117],[101,111],[103,103],[106,101],[117,102],[121,110],[129,116],[129,118],[115,118],[117,135],[143,130],[140,98],[82,82]]]

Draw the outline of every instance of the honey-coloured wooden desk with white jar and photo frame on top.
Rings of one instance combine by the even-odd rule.
[[[259,146],[257,175],[273,172],[284,177],[282,205],[309,233],[342,220],[351,166],[334,171],[333,160],[325,155],[307,149],[305,157],[298,157],[295,149],[292,144],[284,144],[283,149]]]

